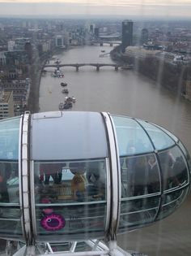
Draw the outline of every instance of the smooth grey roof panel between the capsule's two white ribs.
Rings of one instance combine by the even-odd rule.
[[[104,122],[100,113],[49,112],[32,116],[33,160],[107,156]]]

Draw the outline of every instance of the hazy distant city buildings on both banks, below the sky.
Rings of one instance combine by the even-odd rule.
[[[0,19],[0,119],[38,111],[40,76],[45,63],[70,47],[115,46],[117,63],[134,64],[162,85],[191,100],[191,27],[189,21]],[[139,65],[136,67],[136,62]],[[177,77],[183,80],[176,85]],[[176,75],[175,75],[176,74]],[[172,79],[173,77],[173,79]],[[180,88],[178,88],[180,86]]]

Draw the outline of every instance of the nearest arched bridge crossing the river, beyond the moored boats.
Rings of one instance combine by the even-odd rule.
[[[45,67],[56,67],[60,70],[61,67],[75,67],[76,71],[79,71],[79,67],[92,66],[96,67],[96,71],[100,71],[100,67],[114,67],[117,71],[120,67],[121,69],[133,69],[133,65],[118,65],[113,63],[66,63],[66,64],[47,64]],[[45,69],[44,69],[45,70]]]

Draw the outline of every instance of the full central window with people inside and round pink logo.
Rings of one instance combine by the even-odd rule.
[[[45,236],[55,239],[55,234],[66,235],[70,240],[104,236],[107,216],[104,159],[35,162],[34,175],[39,240]]]

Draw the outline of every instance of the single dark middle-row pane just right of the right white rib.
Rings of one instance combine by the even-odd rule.
[[[121,197],[159,191],[159,166],[155,154],[121,158]]]

